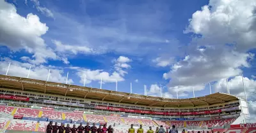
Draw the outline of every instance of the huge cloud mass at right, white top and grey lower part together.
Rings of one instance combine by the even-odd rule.
[[[246,52],[256,46],[255,7],[253,0],[210,0],[193,13],[184,33],[195,38],[188,55],[163,74],[171,79],[168,86],[202,90],[205,83],[237,76],[243,73],[241,67],[250,67],[248,60],[254,55]]]

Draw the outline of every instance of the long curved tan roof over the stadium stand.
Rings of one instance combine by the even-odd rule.
[[[167,99],[5,75],[0,75],[0,87],[44,94],[63,95],[67,97],[165,108],[195,108],[198,106],[223,104],[225,102],[239,100],[234,95],[222,93],[189,99]]]

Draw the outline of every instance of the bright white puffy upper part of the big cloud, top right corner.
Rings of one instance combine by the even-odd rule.
[[[256,46],[255,7],[255,0],[210,0],[193,13],[184,32],[201,34],[196,41],[203,45],[233,43],[237,51],[246,52]]]

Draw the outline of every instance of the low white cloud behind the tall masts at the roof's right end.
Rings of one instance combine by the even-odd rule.
[[[213,86],[215,88],[216,92],[224,92],[227,93],[227,84],[226,79],[221,79],[218,82],[215,83]],[[242,76],[235,76],[231,80],[228,81],[228,87],[230,89],[230,94],[236,95],[238,97],[244,97],[244,88],[243,88],[243,80]],[[251,118],[248,120],[248,122],[255,123],[255,117],[256,116],[256,81],[250,80],[247,77],[244,77],[244,87],[246,88],[246,95],[248,99],[248,106],[250,109],[250,115]]]

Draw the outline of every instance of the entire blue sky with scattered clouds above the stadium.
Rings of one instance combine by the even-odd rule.
[[[255,0],[0,0],[0,74],[175,99],[244,79],[255,122],[255,53]]]

